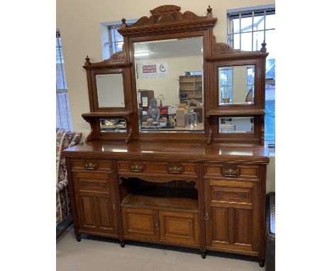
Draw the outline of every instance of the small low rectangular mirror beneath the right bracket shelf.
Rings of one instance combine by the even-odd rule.
[[[219,133],[253,133],[253,117],[219,118]]]

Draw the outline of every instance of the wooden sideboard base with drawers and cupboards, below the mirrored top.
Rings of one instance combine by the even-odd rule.
[[[203,258],[206,250],[253,255],[263,264],[264,146],[91,141],[63,155],[77,240],[87,233],[118,238],[122,246],[141,240],[198,248]],[[135,178],[192,182],[197,197],[165,187],[157,197],[140,193],[125,182]]]

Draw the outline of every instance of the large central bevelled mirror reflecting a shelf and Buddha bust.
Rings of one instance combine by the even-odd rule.
[[[204,132],[203,38],[134,43],[139,128]]]

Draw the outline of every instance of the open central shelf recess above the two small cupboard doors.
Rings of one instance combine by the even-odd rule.
[[[123,199],[121,206],[149,209],[177,209],[198,212],[197,189],[139,187]]]

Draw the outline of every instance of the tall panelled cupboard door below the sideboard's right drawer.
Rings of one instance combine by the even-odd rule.
[[[206,246],[259,251],[259,184],[205,180]]]

